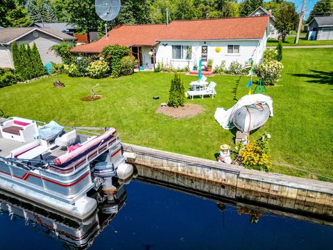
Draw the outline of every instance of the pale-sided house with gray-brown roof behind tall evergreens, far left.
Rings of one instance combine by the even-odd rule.
[[[0,67],[14,68],[12,60],[11,44],[16,41],[17,44],[30,44],[35,42],[42,62],[61,63],[60,57],[56,56],[50,48],[62,41],[72,44],[76,38],[67,35],[53,28],[1,28],[0,29]]]

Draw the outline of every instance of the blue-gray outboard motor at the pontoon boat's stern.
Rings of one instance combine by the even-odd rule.
[[[111,162],[96,163],[94,167],[95,176],[103,179],[103,192],[108,195],[108,200],[114,199],[117,188],[112,184],[112,177],[117,175],[114,165]]]

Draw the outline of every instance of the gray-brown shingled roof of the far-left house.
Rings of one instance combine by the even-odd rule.
[[[33,31],[40,31],[42,33],[46,33],[51,35],[59,40],[76,40],[76,38],[71,35],[67,35],[62,33],[61,31],[57,31],[53,28],[37,28],[37,27],[26,27],[26,28],[1,28],[0,29],[0,44],[8,44],[10,42],[14,42],[15,40],[24,37],[24,35],[28,35]]]

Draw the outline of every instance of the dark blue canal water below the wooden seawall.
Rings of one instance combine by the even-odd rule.
[[[330,226],[224,206],[139,181],[125,189],[127,199],[117,215],[99,215],[99,226],[96,221],[73,226],[61,217],[48,219],[41,210],[30,213],[31,206],[22,209],[19,201],[2,198],[0,249],[76,249],[77,243],[69,243],[80,238],[71,236],[75,228],[88,228],[82,235],[91,234],[89,249],[99,250],[332,249]]]

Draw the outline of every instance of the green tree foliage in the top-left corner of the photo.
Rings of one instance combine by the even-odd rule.
[[[28,11],[16,0],[0,0],[0,25],[3,27],[28,26],[31,20]]]

